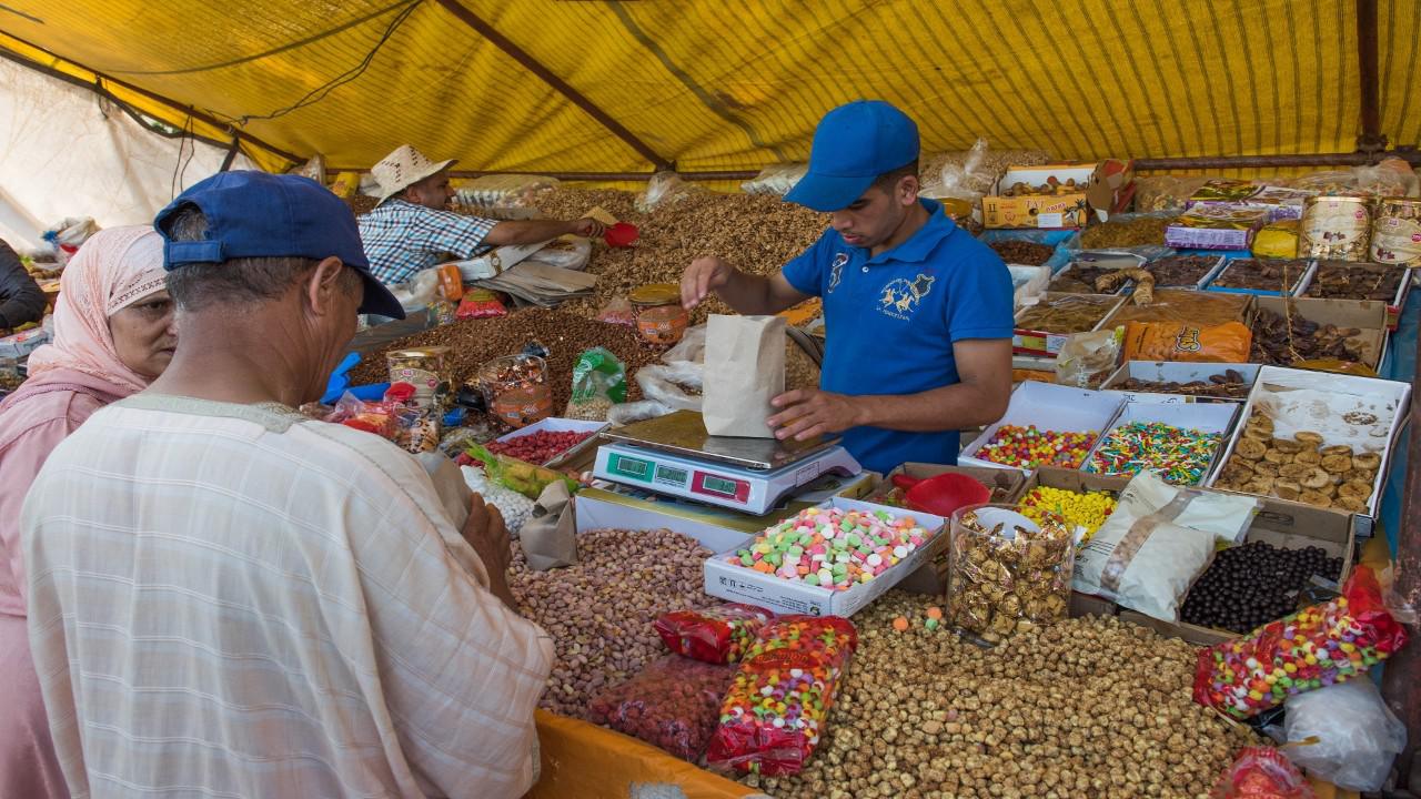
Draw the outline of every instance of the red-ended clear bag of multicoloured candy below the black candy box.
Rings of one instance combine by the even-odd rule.
[[[1366,674],[1405,643],[1376,573],[1358,566],[1343,596],[1199,650],[1194,701],[1249,718],[1295,694]]]

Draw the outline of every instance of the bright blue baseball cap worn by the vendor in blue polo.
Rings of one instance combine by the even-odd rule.
[[[841,210],[875,178],[917,158],[917,122],[882,100],[855,100],[820,119],[809,172],[784,199],[814,210]]]

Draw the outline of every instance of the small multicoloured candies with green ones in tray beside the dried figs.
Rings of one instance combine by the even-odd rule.
[[[1171,485],[1198,485],[1209,471],[1222,435],[1164,422],[1130,422],[1106,435],[1086,465],[1100,475],[1158,472]]]

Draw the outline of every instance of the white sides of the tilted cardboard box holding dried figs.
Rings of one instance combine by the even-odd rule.
[[[1344,374],[1290,370],[1285,367],[1262,367],[1258,372],[1258,380],[1253,382],[1253,391],[1249,394],[1248,402],[1239,412],[1241,422],[1238,429],[1229,438],[1228,449],[1225,449],[1219,456],[1219,463],[1226,463],[1229,456],[1233,455],[1233,448],[1238,445],[1243,424],[1248,422],[1248,418],[1252,415],[1253,407],[1259,402],[1260,397],[1297,390],[1324,391],[1334,395],[1351,395],[1354,402],[1380,404],[1393,409],[1390,428],[1385,431],[1385,435],[1377,436],[1383,441],[1383,446],[1380,448],[1381,468],[1377,469],[1377,475],[1371,485],[1371,498],[1367,499],[1367,512],[1356,515],[1357,536],[1370,537],[1373,527],[1376,526],[1377,509],[1381,505],[1383,489],[1387,485],[1387,473],[1391,469],[1391,455],[1397,446],[1398,438],[1401,436],[1401,431],[1405,428],[1407,419],[1410,418],[1408,402],[1411,400],[1411,385],[1394,380],[1378,380],[1373,377],[1351,377]],[[1289,424],[1295,427],[1309,425],[1306,419],[1289,419]],[[1212,488],[1215,482],[1218,482],[1218,472],[1209,478],[1208,485]],[[1346,513],[1346,510],[1334,512]]]

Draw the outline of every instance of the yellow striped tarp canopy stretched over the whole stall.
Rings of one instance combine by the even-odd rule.
[[[925,151],[985,136],[1060,158],[1350,152],[1356,13],[1356,0],[6,0],[0,53],[207,138],[240,129],[269,168],[315,152],[367,168],[409,142],[460,169],[695,172],[804,159],[818,117],[860,97],[912,114]],[[1421,141],[1418,30],[1421,3],[1380,0],[1391,144]]]

